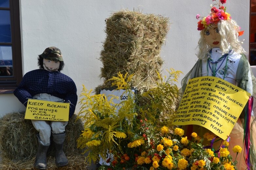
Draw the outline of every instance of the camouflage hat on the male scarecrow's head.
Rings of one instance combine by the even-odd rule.
[[[63,61],[61,51],[57,47],[46,48],[40,56],[51,61]]]

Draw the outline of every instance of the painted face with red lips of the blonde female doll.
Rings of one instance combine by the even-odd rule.
[[[219,34],[218,27],[213,27],[209,30],[206,29],[204,37],[207,44],[209,44],[211,47],[220,47],[221,36]]]

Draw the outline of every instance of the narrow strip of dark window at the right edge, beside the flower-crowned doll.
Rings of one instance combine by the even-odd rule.
[[[251,0],[250,10],[250,65],[256,65],[256,0]]]

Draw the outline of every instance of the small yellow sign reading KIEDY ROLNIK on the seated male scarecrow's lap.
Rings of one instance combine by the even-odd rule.
[[[69,103],[29,99],[25,119],[69,121]]]

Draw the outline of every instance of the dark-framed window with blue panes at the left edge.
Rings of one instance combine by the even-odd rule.
[[[22,79],[19,0],[0,0],[0,93]]]

